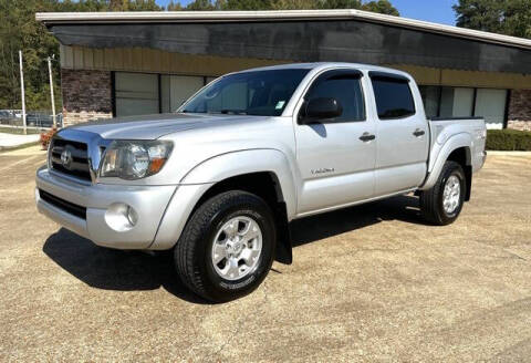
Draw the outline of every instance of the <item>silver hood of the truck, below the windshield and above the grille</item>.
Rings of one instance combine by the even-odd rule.
[[[266,118],[268,117],[222,114],[154,114],[92,121],[67,128],[98,134],[103,138],[155,139],[179,131],[233,125]]]

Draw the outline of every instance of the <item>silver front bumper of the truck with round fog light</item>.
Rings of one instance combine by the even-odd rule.
[[[37,208],[40,212],[96,245],[118,249],[146,249],[153,243],[168,203],[177,189],[175,185],[84,185],[56,176],[46,167],[37,172],[35,184]],[[86,217],[43,200],[40,190],[86,208]],[[132,207],[137,214],[137,222],[126,230],[112,227],[110,209],[118,204]]]

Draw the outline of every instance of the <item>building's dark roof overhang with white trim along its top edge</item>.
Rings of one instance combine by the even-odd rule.
[[[37,13],[65,45],[531,74],[531,40],[360,10]]]

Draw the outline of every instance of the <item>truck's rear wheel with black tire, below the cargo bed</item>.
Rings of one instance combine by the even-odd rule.
[[[466,195],[467,182],[462,167],[447,160],[437,183],[430,189],[420,191],[423,217],[437,226],[454,222],[461,212]]]

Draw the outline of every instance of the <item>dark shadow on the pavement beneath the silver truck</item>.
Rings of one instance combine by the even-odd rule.
[[[417,207],[416,197],[399,196],[296,220],[292,224],[293,247],[383,220],[418,224],[421,219]],[[170,253],[150,256],[140,251],[102,248],[64,228],[46,239],[43,251],[60,267],[93,288],[117,291],[164,288],[185,301],[210,303],[183,286],[174,270]]]

